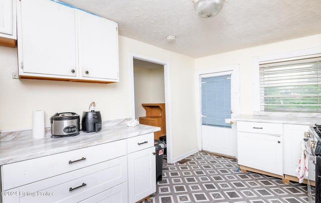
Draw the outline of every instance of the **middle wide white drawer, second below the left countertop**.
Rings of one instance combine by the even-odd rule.
[[[19,202],[79,202],[126,181],[127,156],[122,156],[10,191],[17,191]],[[30,194],[23,196],[23,192]]]

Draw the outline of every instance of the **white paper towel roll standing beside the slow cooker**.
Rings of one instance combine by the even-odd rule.
[[[32,112],[32,138],[45,137],[45,111]]]

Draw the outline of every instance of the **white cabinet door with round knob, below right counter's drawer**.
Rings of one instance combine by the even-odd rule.
[[[283,137],[279,135],[238,132],[240,165],[283,175]]]

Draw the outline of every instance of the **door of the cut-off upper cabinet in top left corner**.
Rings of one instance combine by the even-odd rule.
[[[0,0],[0,33],[13,35],[13,20],[13,0]]]

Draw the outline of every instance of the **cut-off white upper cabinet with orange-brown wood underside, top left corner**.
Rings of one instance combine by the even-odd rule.
[[[16,0],[0,0],[0,45],[16,46],[16,25]]]

